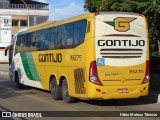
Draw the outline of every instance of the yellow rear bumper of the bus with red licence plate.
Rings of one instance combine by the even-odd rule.
[[[123,99],[147,96],[149,83],[134,86],[99,86],[90,85],[88,89],[89,99]]]

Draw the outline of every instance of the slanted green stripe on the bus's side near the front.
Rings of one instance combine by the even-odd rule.
[[[22,58],[23,57],[23,58]],[[21,53],[22,63],[27,77],[30,80],[41,81],[34,64],[32,53]]]

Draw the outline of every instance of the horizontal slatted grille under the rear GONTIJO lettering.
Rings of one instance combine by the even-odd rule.
[[[140,58],[143,54],[142,49],[101,49],[100,54],[103,58]]]

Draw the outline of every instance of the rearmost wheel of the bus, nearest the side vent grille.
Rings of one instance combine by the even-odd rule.
[[[63,80],[63,83],[62,83],[62,98],[66,103],[73,103],[75,101],[75,98],[69,95],[68,84],[66,79]]]

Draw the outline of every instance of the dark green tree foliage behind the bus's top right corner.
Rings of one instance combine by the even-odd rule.
[[[144,14],[149,27],[151,55],[158,55],[156,46],[160,42],[159,0],[85,0],[84,8],[90,12],[125,11]]]

